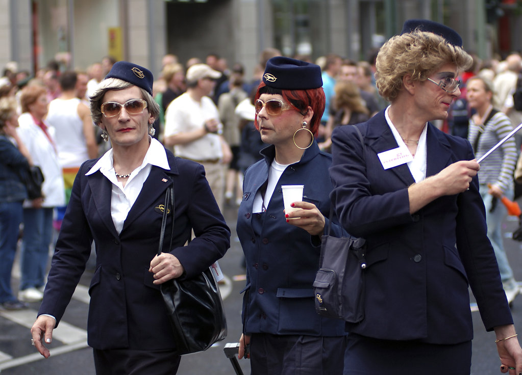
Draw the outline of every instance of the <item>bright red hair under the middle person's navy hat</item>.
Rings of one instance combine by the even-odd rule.
[[[262,81],[257,87],[257,93],[254,101],[259,99],[261,94],[265,93],[272,95],[282,95],[284,101],[290,104],[294,110],[300,112],[302,115],[306,114],[309,106],[312,107],[314,115],[310,120],[310,131],[313,133],[314,137],[317,137],[319,125],[321,125],[321,117],[325,111],[325,92],[323,91],[322,87],[307,90],[281,90],[268,87],[266,86],[265,82]],[[257,114],[254,125],[256,129],[259,130],[259,125],[257,124]]]

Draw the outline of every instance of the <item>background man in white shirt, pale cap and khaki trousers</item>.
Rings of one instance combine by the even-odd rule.
[[[187,91],[174,99],[165,112],[164,144],[174,154],[205,167],[212,193],[223,208],[224,178],[232,152],[222,133],[216,105],[208,97],[221,73],[206,64],[195,64],[186,74]]]

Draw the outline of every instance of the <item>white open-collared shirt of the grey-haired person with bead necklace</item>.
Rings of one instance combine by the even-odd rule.
[[[85,175],[91,175],[98,170],[109,179],[112,183],[111,192],[111,214],[112,221],[116,227],[118,234],[121,233],[123,223],[127,217],[127,214],[131,210],[134,202],[138,198],[138,195],[145,183],[145,180],[149,176],[152,165],[156,165],[164,170],[170,171],[169,162],[167,160],[167,153],[163,148],[162,144],[156,139],[149,136],[150,146],[145,154],[143,163],[132,171],[131,175],[127,179],[125,186],[118,181],[116,172],[114,171],[114,158],[113,150],[105,152],[103,156],[92,166],[92,168]]]

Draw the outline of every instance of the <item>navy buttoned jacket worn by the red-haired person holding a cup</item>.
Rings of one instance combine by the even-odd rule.
[[[236,225],[246,258],[244,332],[344,335],[342,321],[323,318],[315,312],[312,284],[319,269],[320,239],[286,222],[281,190],[281,185],[304,185],[303,201],[314,203],[325,216],[326,230],[332,187],[328,175],[331,155],[319,151],[314,141],[301,160],[283,172],[266,211],[253,213],[256,192],[268,180],[274,146],[265,148],[262,154],[264,160],[245,173]],[[339,225],[334,223],[331,231],[340,235]]]

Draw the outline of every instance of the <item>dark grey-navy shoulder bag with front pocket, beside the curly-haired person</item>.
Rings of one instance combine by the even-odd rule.
[[[351,126],[351,125],[347,125]],[[357,128],[364,152],[364,140]],[[349,323],[364,319],[364,270],[366,240],[356,237],[331,237],[330,217],[326,236],[322,237],[319,270],[315,275],[315,310],[319,315]]]

